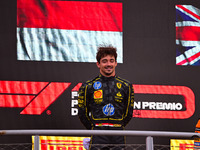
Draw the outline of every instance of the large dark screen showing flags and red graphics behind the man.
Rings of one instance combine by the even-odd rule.
[[[78,89],[99,75],[97,47],[111,44],[118,52],[116,75],[135,91],[126,130],[194,132],[200,117],[197,0],[8,0],[0,12],[1,130],[85,129],[77,116]],[[1,141],[31,142],[31,136]]]

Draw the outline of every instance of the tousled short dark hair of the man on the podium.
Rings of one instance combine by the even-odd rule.
[[[97,49],[97,55],[96,55],[96,59],[98,63],[100,63],[101,58],[107,55],[114,56],[115,61],[117,61],[117,48],[113,47],[112,45],[99,46]]]

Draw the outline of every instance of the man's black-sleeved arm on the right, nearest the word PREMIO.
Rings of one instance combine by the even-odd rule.
[[[124,112],[124,127],[128,124],[128,122],[133,117],[133,105],[134,105],[134,90],[132,84],[129,84],[128,86],[128,95],[127,95],[127,101],[126,101],[126,108]]]

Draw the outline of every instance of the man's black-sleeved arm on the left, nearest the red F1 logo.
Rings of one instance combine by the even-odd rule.
[[[87,128],[92,128],[92,123],[89,117],[88,102],[87,102],[87,85],[83,84],[79,89],[78,96],[78,116],[82,124]]]

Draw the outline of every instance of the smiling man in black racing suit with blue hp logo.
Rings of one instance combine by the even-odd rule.
[[[116,48],[99,47],[96,59],[100,75],[79,89],[79,118],[87,129],[123,130],[133,114],[132,85],[115,75]],[[95,135],[91,137],[91,144],[125,144],[125,138]]]

